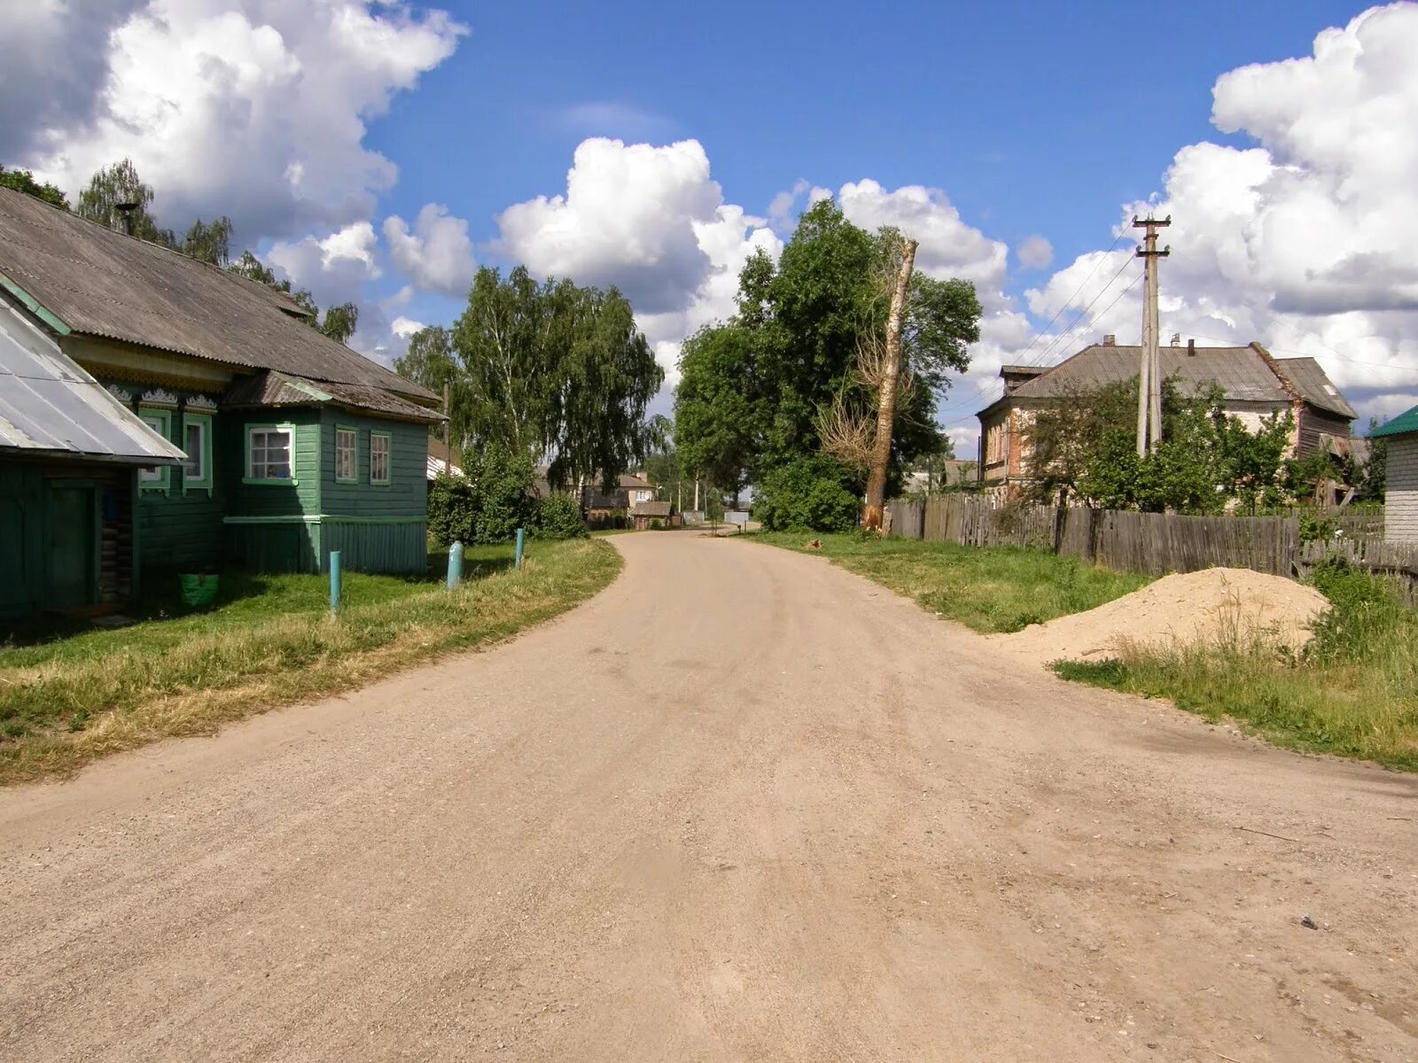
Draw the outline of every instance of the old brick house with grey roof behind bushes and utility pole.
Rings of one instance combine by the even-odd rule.
[[[1224,408],[1249,429],[1278,411],[1295,414],[1292,454],[1349,452],[1354,408],[1330,383],[1314,359],[1276,359],[1259,343],[1245,347],[1183,346],[1180,337],[1161,347],[1163,377],[1183,390],[1214,381],[1225,394]],[[987,489],[1008,492],[1027,479],[1028,427],[1034,411],[1082,391],[1137,376],[1141,347],[1117,346],[1113,337],[1085,347],[1056,366],[1004,366],[1004,394],[980,411],[977,476]]]

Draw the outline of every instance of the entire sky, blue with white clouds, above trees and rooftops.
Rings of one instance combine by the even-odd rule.
[[[1314,356],[1367,418],[1418,403],[1415,54],[1412,3],[0,4],[0,162],[130,156],[386,360],[478,264],[617,283],[671,383],[834,194],[980,289],[964,448],[1001,363],[1136,337],[1151,203],[1163,332]]]

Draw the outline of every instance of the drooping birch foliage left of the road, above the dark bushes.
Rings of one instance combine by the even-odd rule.
[[[478,271],[452,330],[452,434],[547,459],[557,488],[613,480],[647,449],[645,408],[664,380],[625,298],[525,266]]]

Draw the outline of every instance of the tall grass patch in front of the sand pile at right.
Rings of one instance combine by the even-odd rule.
[[[1054,670],[1110,690],[1167,697],[1231,717],[1276,746],[1418,771],[1418,612],[1380,580],[1343,566],[1314,585],[1333,609],[1296,658],[1263,638],[1218,639]]]

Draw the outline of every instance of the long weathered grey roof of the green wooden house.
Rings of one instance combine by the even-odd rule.
[[[71,330],[306,380],[435,395],[309,327],[284,295],[0,189],[0,274]]]

